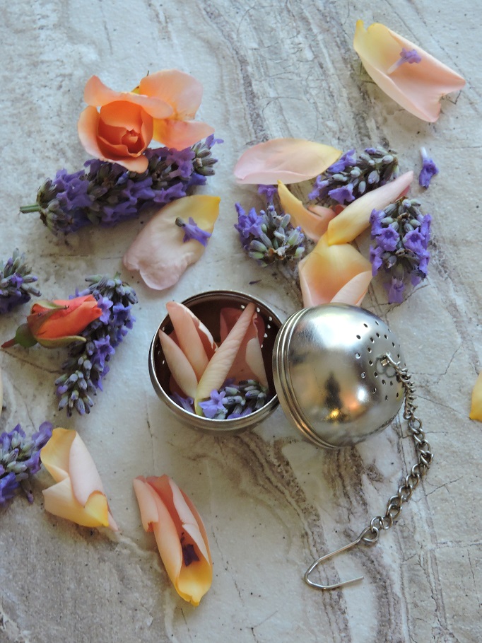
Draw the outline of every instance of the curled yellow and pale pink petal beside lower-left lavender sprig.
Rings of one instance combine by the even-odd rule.
[[[42,492],[46,511],[84,527],[117,531],[98,470],[77,431],[54,429],[40,458],[57,483]]]

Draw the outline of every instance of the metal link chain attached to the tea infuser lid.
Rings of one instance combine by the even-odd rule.
[[[413,490],[418,486],[425,473],[428,472],[433,460],[430,444],[428,444],[422,431],[422,421],[415,415],[417,405],[415,404],[415,386],[413,386],[411,376],[408,374],[407,369],[402,369],[399,362],[392,359],[389,353],[384,355],[381,360],[383,366],[393,366],[396,375],[404,386],[404,419],[406,419],[408,430],[415,441],[418,461],[411,468],[411,472],[406,475],[404,484],[400,485],[396,494],[389,499],[384,516],[372,518],[370,525],[360,534],[359,542],[365,545],[375,545],[380,536],[380,531],[387,531],[393,526],[401,513],[402,505],[411,498]]]

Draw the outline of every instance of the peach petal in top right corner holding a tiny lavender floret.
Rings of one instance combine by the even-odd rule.
[[[365,30],[363,21],[359,20],[353,47],[380,89],[422,120],[435,122],[440,115],[440,98],[465,85],[462,76],[380,23]],[[416,50],[421,62],[406,62],[393,69],[402,49]]]

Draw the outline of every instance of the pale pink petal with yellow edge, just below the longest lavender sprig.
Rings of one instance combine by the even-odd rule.
[[[184,231],[176,226],[192,216],[197,226],[212,233],[219,215],[219,197],[182,197],[161,208],[141,230],[124,255],[127,270],[139,270],[144,283],[154,290],[173,286],[184,270],[204,253],[204,245],[190,239],[183,243]]]

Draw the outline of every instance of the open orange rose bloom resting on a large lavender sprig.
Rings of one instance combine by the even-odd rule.
[[[78,136],[86,151],[102,161],[144,172],[148,160],[143,153],[151,139],[184,149],[213,133],[206,123],[193,120],[201,96],[201,83],[177,69],[150,74],[131,92],[114,91],[92,76]]]

